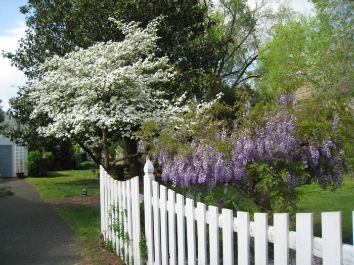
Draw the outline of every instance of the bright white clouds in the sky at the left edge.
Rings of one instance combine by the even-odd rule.
[[[0,51],[14,51],[18,48],[18,40],[25,35],[24,22],[17,22],[18,27],[6,30],[6,35],[0,35]],[[17,87],[27,81],[23,72],[11,66],[10,60],[0,56],[0,99],[3,100],[3,110],[9,109],[8,100],[16,96]]]

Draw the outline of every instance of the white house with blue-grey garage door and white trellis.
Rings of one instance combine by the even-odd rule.
[[[1,125],[17,126],[17,123],[9,119],[9,116],[0,110],[4,115],[4,122]],[[0,134],[0,177],[16,177],[16,173],[24,173],[28,176],[25,163],[27,160],[27,149],[11,142],[9,138]]]

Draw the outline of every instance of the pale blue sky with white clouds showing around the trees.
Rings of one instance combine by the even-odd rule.
[[[247,0],[252,6],[255,0]],[[312,5],[307,0],[274,0],[287,2],[297,12],[309,13]],[[25,16],[20,14],[19,7],[27,3],[26,0],[0,0],[0,52],[17,49],[17,40],[24,36]],[[8,100],[16,96],[17,86],[26,82],[25,75],[15,67],[11,67],[8,59],[0,56],[0,99],[3,100],[3,110],[9,108]]]

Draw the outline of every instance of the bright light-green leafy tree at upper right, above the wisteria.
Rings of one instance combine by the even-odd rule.
[[[277,25],[259,56],[266,94],[305,87],[322,93],[323,100],[353,95],[353,4],[343,3],[316,1],[316,16]]]

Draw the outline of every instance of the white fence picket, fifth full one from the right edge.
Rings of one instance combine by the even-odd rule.
[[[238,264],[250,262],[249,250],[249,213],[237,212],[237,260]]]

